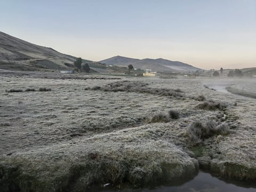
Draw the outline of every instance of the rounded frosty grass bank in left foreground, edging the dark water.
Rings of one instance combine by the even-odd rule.
[[[145,187],[198,172],[196,159],[171,143],[107,140],[2,157],[0,191],[85,191],[105,183]]]

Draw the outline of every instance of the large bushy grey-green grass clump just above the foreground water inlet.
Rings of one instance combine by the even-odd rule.
[[[226,135],[229,132],[230,128],[226,123],[217,125],[214,121],[202,123],[197,120],[191,123],[187,129],[189,139],[194,144],[201,143],[204,139],[212,137],[214,134]]]

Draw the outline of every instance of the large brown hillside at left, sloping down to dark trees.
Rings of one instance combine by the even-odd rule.
[[[75,59],[49,47],[35,45],[0,31],[1,69],[71,69]]]

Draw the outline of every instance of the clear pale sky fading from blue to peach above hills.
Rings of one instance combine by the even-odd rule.
[[[256,0],[0,0],[0,31],[93,61],[256,67]]]

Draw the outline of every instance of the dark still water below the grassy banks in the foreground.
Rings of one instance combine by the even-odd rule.
[[[229,183],[233,182],[233,183]],[[91,191],[102,191],[102,192],[221,192],[221,191],[232,191],[232,192],[255,192],[256,183],[242,182],[242,181],[222,181],[218,178],[212,177],[209,173],[199,172],[198,175],[180,186],[159,186],[154,189],[101,189]]]

